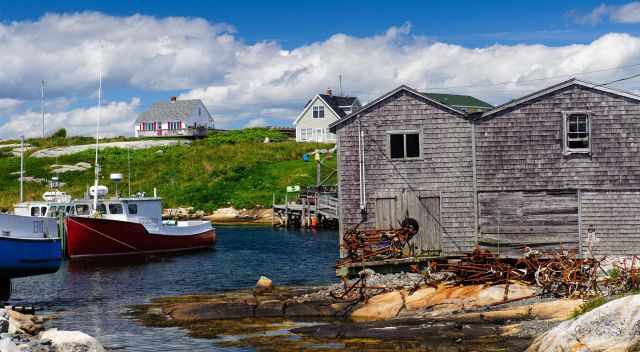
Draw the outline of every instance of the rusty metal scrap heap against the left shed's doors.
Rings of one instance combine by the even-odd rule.
[[[399,229],[363,231],[358,230],[356,226],[347,231],[342,238],[342,247],[346,250],[347,256],[338,262],[338,266],[410,256],[409,241],[418,230],[418,222],[412,218],[402,221]]]

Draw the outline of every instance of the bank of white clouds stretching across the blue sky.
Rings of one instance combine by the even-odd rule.
[[[633,4],[613,10],[603,5],[591,21],[631,21]],[[626,18],[614,17],[627,6]],[[340,75],[345,94],[363,103],[407,84],[497,104],[576,72],[640,62],[640,37],[623,33],[587,44],[469,48],[413,35],[406,24],[368,37],[335,34],[285,49],[274,41],[245,43],[230,25],[197,18],[48,14],[0,23],[0,108],[2,102],[15,104],[4,115],[0,110],[9,118],[2,136],[39,131],[41,79],[50,97],[48,125],[92,134],[92,109],[78,106],[94,104],[100,47],[107,97],[133,91],[144,99],[150,90],[182,90],[180,98],[204,100],[219,128],[292,121],[316,93],[327,87],[337,93]],[[581,78],[602,82],[632,73],[628,68]],[[554,79],[537,80],[548,77]],[[103,126],[110,134],[131,134],[139,110],[151,101],[118,99],[124,101],[105,107],[105,116],[114,115]]]

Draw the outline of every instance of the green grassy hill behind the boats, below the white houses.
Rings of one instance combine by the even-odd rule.
[[[272,142],[263,143],[265,137]],[[34,146],[51,147],[78,144],[80,140],[87,139],[58,136],[29,142]],[[150,195],[156,187],[164,198],[165,207],[193,206],[211,211],[224,206],[270,206],[272,193],[276,192],[277,200],[282,201],[287,185],[315,184],[315,163],[303,161],[303,154],[329,147],[331,145],[295,143],[277,131],[251,128],[212,134],[191,145],[131,150],[131,191]],[[124,175],[120,193],[126,195],[127,153],[125,149],[116,148],[101,152],[101,184],[107,185],[112,194],[115,185],[109,175],[119,172]],[[53,176],[51,165],[81,161],[93,164],[94,156],[93,151],[85,151],[57,158],[26,157],[25,175],[49,179]],[[335,158],[330,155],[323,164],[324,178],[335,169]],[[3,153],[0,157],[0,208],[11,208],[18,201],[18,175],[11,173],[19,170],[20,158]],[[74,197],[84,195],[87,187],[93,184],[93,177],[93,169],[59,175],[60,181],[65,183],[62,190]],[[45,184],[25,182],[25,198],[41,199],[47,188]]]

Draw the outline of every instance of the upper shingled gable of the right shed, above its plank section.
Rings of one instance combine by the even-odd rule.
[[[591,116],[591,156],[562,154],[562,112]],[[640,188],[640,104],[572,86],[476,122],[478,190]]]

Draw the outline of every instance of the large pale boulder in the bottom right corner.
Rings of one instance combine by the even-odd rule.
[[[640,350],[640,295],[611,301],[536,338],[538,351],[614,352]]]

